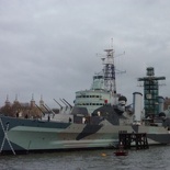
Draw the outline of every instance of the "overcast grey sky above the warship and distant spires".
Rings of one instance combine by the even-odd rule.
[[[143,92],[137,78],[155,67],[166,76],[160,95],[170,97],[169,0],[0,0],[0,105],[7,94],[21,102],[43,95],[49,106],[89,89],[113,47],[117,92],[132,102]],[[97,54],[99,54],[97,56]]]

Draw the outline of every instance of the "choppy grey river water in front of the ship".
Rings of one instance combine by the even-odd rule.
[[[48,154],[0,156],[0,170],[170,170],[170,146],[129,150],[78,150]]]

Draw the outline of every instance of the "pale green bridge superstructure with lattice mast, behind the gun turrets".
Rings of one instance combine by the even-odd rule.
[[[117,104],[114,49],[110,48],[104,52],[106,56],[102,58],[103,69],[93,76],[90,90],[76,92],[75,106],[87,107],[90,115],[104,104]]]

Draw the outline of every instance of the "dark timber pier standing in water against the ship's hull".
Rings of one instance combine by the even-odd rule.
[[[149,148],[146,133],[120,132],[118,138],[120,144],[122,144],[125,149],[131,149],[132,147],[136,147],[137,150]]]

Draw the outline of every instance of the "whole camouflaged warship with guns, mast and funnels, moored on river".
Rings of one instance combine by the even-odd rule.
[[[69,112],[56,101],[61,112],[42,113],[41,118],[1,114],[0,154],[113,148],[120,132],[146,133],[149,145],[169,144],[170,121],[157,98],[158,80],[165,77],[157,78],[154,68],[147,68],[147,77],[138,79],[144,81],[144,100],[140,92],[134,92],[133,105],[126,105],[127,99],[116,92],[114,49],[105,52],[103,69],[94,75],[90,90],[76,92],[73,106],[61,100]]]

